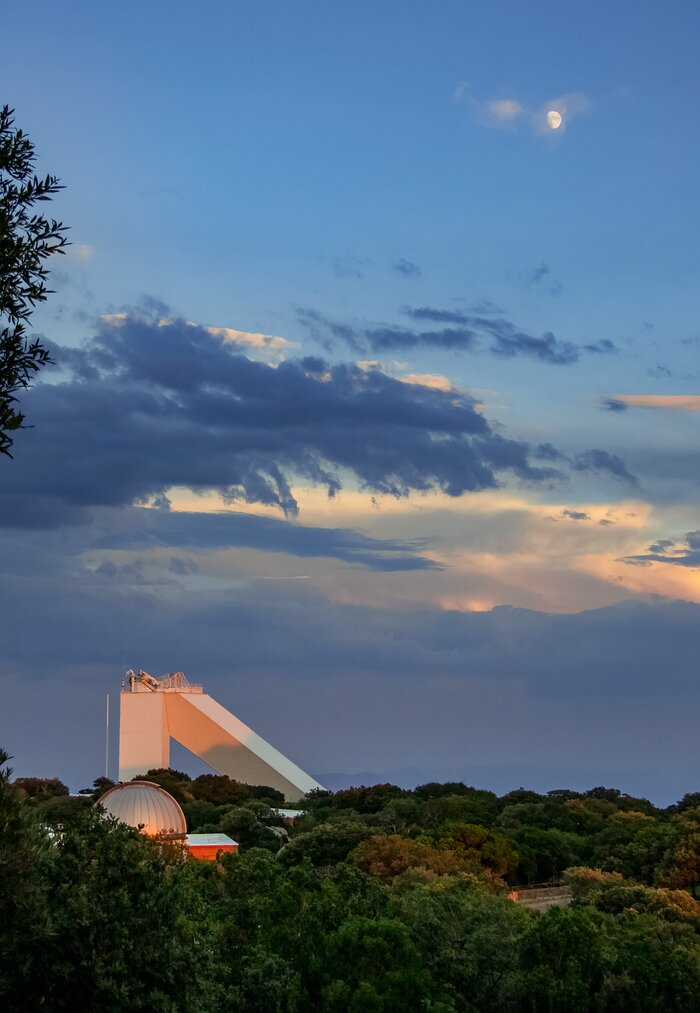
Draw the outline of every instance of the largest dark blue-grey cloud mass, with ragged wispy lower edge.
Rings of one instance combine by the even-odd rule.
[[[35,427],[19,434],[4,471],[4,526],[79,523],[85,508],[170,486],[293,514],[295,479],[331,495],[343,472],[377,493],[460,495],[495,486],[504,471],[558,474],[495,433],[467,394],[312,357],[271,368],[181,320],[127,317],[100,324],[81,348],[53,352],[57,382],[27,392]]]

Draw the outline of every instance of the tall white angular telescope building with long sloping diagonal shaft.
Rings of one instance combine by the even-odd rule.
[[[169,767],[171,738],[217,773],[269,785],[289,801],[323,787],[181,672],[155,679],[130,669],[120,696],[120,781]]]

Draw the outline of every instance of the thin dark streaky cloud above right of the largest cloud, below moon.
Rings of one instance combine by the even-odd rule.
[[[468,352],[485,344],[491,355],[501,359],[523,356],[552,366],[569,366],[577,362],[582,353],[609,355],[617,350],[607,338],[593,344],[577,345],[560,340],[551,331],[537,337],[502,316],[436,309],[432,306],[402,306],[401,312],[420,323],[450,326],[437,330],[415,330],[393,325],[354,326],[330,320],[313,309],[300,310],[299,318],[310,334],[326,347],[343,341],[354,352],[362,355],[419,347]]]

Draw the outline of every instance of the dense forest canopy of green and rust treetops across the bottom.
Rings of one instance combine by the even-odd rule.
[[[149,771],[190,829],[242,845],[199,863],[100,815],[102,784],[77,798],[55,779],[22,788],[6,763],[2,1009],[697,1009],[696,806],[610,788],[377,785],[314,792],[283,827],[269,789]],[[62,807],[63,831],[49,830]],[[598,868],[581,864],[592,856]],[[569,907],[508,895],[505,880],[552,878]]]

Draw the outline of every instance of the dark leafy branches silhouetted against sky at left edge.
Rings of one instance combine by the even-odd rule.
[[[13,110],[0,109],[0,453],[11,457],[13,434],[24,415],[17,395],[49,360],[26,325],[36,303],[49,295],[46,260],[63,253],[66,229],[54,219],[32,213],[61,189],[56,176],[34,173],[29,139],[14,129]]]

